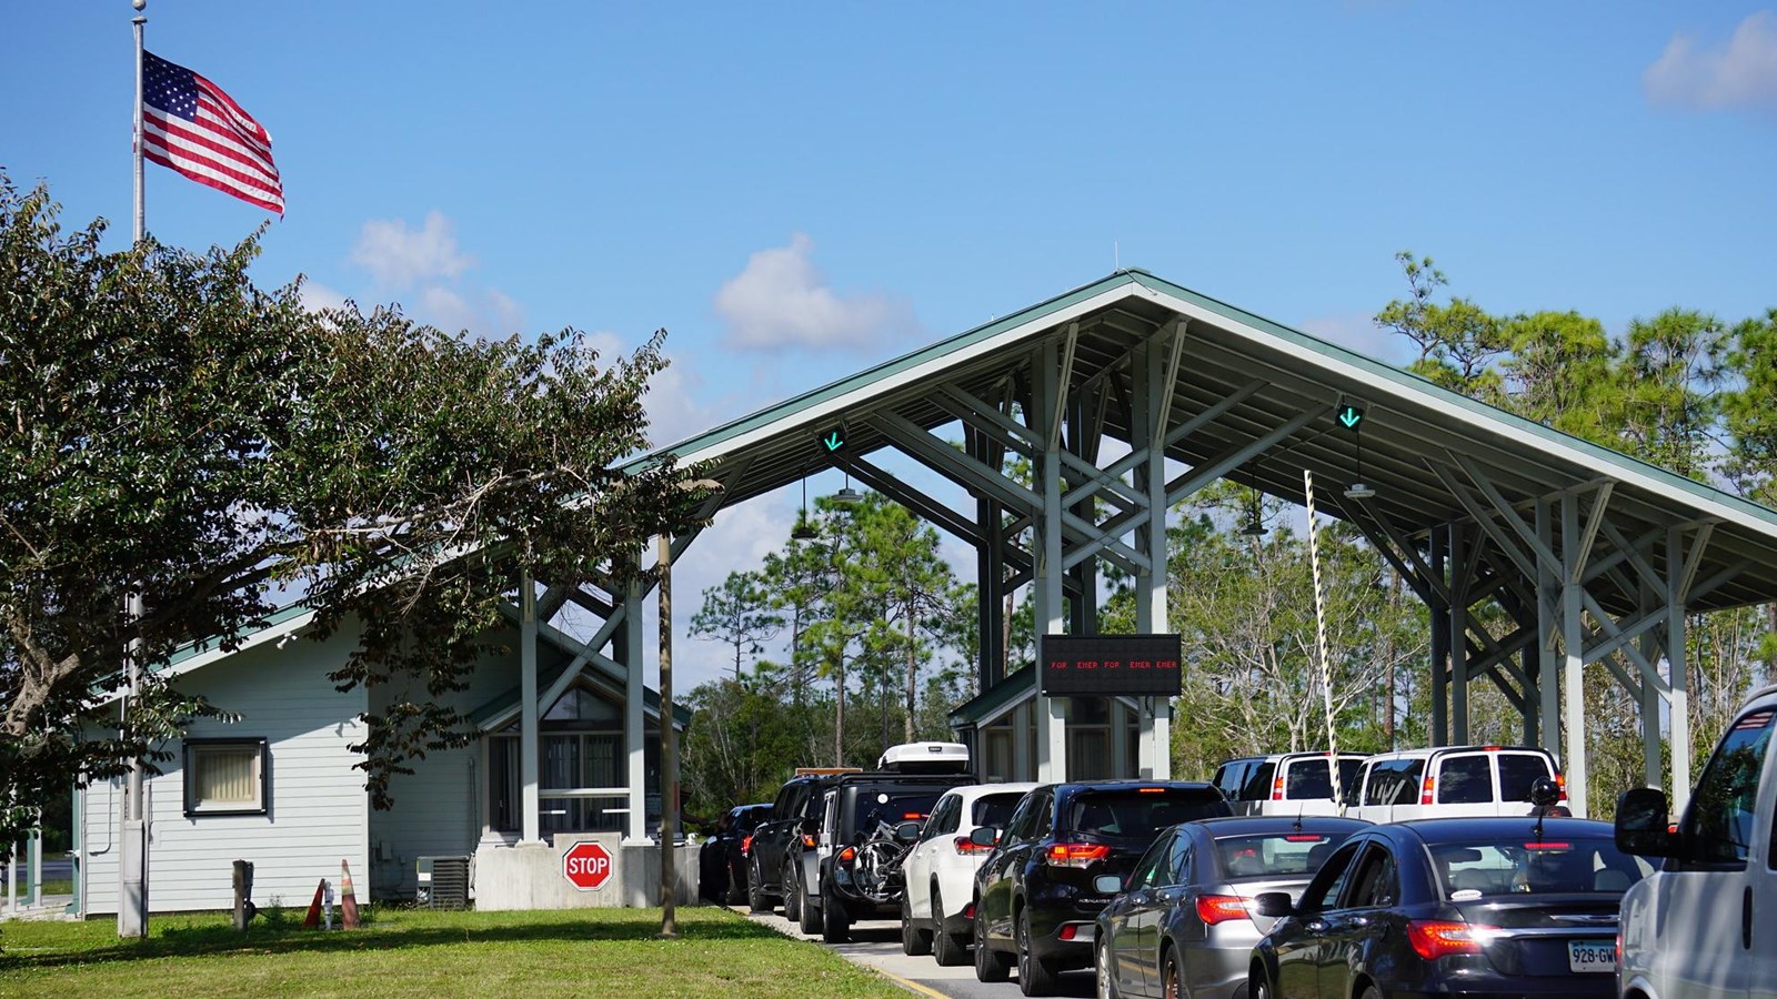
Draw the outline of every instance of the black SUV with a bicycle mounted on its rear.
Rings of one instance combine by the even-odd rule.
[[[801,928],[830,944],[851,939],[858,919],[899,919],[901,873],[874,864],[912,846],[919,823],[951,787],[974,784],[968,773],[858,773],[841,777],[825,795],[814,883],[801,899]],[[887,828],[885,828],[887,827]],[[894,832],[890,832],[894,830]],[[871,839],[887,839],[874,846]]]

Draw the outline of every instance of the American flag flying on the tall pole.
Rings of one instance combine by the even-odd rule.
[[[142,158],[284,213],[265,128],[222,87],[149,52],[142,53]]]

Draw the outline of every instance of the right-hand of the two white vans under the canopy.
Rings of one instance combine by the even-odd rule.
[[[1548,777],[1567,786],[1548,750],[1532,747],[1438,747],[1395,750],[1363,761],[1345,787],[1345,818],[1407,821],[1457,816],[1526,816],[1530,786]],[[1562,812],[1566,814],[1566,812]]]

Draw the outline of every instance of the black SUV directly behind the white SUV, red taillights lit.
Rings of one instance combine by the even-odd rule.
[[[1093,960],[1098,912],[1111,896],[1093,880],[1127,876],[1162,830],[1233,814],[1214,784],[1089,780],[1047,784],[1018,802],[999,844],[976,871],[976,978],[1006,981],[1018,962],[1025,995],[1056,990],[1056,974]],[[993,843],[992,827],[972,839]]]

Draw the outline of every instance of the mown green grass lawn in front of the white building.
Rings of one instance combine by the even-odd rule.
[[[227,915],[155,915],[149,939],[114,919],[0,924],[0,995],[894,995],[906,992],[819,946],[725,908],[418,912],[364,928],[300,926],[283,910],[236,933]]]

